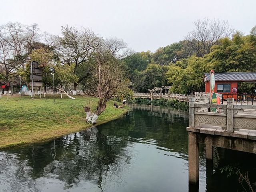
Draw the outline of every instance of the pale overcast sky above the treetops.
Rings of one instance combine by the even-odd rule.
[[[55,35],[67,24],[84,26],[123,39],[136,52],[154,52],[183,40],[198,19],[228,20],[249,34],[255,8],[256,0],[0,0],[0,25],[36,23]]]

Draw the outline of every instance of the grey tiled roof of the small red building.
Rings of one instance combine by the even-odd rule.
[[[210,73],[205,73],[206,81],[210,81]],[[256,81],[256,72],[214,73],[215,81]]]

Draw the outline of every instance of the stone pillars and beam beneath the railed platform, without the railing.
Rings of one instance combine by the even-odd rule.
[[[201,131],[202,129],[202,131]],[[248,139],[245,133],[237,134],[236,137],[214,135],[214,131],[205,128],[187,128],[188,130],[188,180],[194,188],[199,184],[199,144],[206,145],[206,174],[211,175],[213,170],[213,146],[249,152],[256,154],[256,137]],[[206,134],[205,132],[208,132]],[[204,133],[202,133],[204,132]],[[227,134],[227,132],[223,132]],[[248,134],[248,133],[247,133]]]

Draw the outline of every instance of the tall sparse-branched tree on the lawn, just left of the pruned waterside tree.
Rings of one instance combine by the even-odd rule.
[[[78,75],[78,81],[74,82],[73,94],[76,87],[89,73],[80,73],[80,67],[91,58],[96,48],[100,46],[102,39],[87,28],[78,30],[75,27],[62,26],[60,37],[59,60],[64,65],[75,64],[74,74]]]

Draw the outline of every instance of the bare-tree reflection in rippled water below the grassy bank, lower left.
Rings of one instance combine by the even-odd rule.
[[[64,181],[64,189],[71,188],[81,180],[97,183],[102,188],[103,177],[110,167],[121,165],[120,157],[122,163],[130,163],[129,154],[122,150],[127,143],[128,140],[102,135],[96,127],[92,127],[34,148],[1,152],[1,160],[6,159],[6,162],[1,161],[0,168],[12,176],[12,183],[8,184],[11,191],[26,191],[17,185],[24,182],[27,188],[36,191],[36,187],[33,187],[36,179],[50,176]],[[2,174],[4,172],[0,172]],[[8,178],[6,175],[3,177]],[[4,184],[2,180],[0,186]]]

